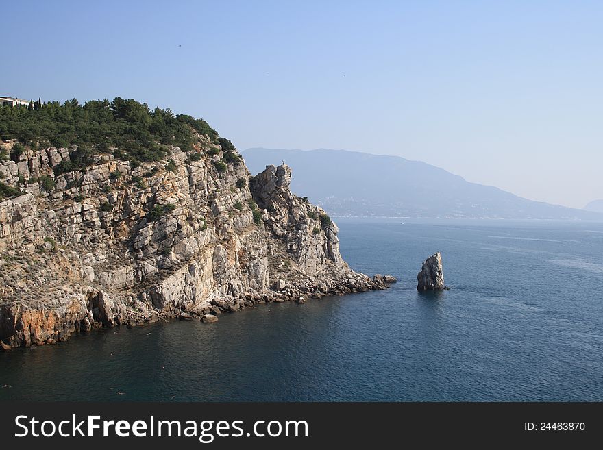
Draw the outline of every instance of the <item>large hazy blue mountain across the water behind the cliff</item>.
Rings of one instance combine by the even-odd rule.
[[[531,201],[424,162],[398,156],[317,149],[247,149],[251,173],[286,162],[291,189],[339,216],[583,218],[603,215]]]

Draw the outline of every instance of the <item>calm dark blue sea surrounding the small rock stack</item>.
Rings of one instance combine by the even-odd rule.
[[[603,224],[338,224],[354,269],[402,282],[0,353],[0,399],[603,400]],[[438,250],[452,289],[420,295]]]

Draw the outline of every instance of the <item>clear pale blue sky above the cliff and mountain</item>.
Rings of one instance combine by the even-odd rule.
[[[134,98],[239,150],[399,155],[528,199],[603,198],[602,1],[20,0],[1,16],[0,95]]]

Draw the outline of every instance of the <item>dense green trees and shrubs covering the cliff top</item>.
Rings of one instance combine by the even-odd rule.
[[[93,100],[84,105],[71,99],[33,109],[0,106],[0,138],[18,139],[21,144],[13,147],[13,160],[19,160],[23,145],[33,149],[78,147],[71,162],[58,168],[61,173],[86,166],[94,153],[112,153],[135,164],[158,161],[164,158],[169,145],[177,145],[182,151],[192,150],[195,132],[223,145],[227,158],[233,158],[230,153],[236,155],[232,142],[219,138],[206,121],[175,115],[169,109],[151,110],[146,103],[132,99],[116,97],[113,101]]]

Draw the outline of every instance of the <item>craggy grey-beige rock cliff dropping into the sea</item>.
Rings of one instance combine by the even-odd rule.
[[[341,258],[337,227],[291,193],[291,169],[250,177],[209,136],[134,166],[110,153],[56,175],[65,148],[0,161],[0,339],[75,332],[256,303],[384,288]],[[0,197],[1,198],[1,197]]]

